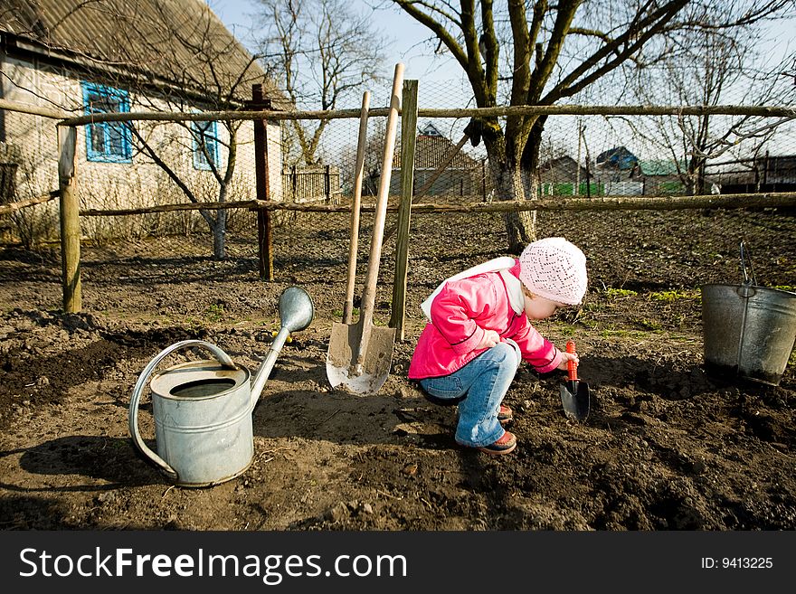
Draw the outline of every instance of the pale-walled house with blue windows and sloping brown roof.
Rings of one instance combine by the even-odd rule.
[[[260,106],[290,108],[203,0],[4,0],[0,70],[0,98],[70,115],[251,108],[254,85],[261,85]],[[14,188],[24,200],[58,187],[54,124],[0,110],[0,164],[5,177],[14,169],[4,193]],[[268,123],[274,199],[281,194],[280,137],[280,125]],[[251,120],[80,127],[81,208],[187,202],[186,193],[203,202],[254,198],[252,150]],[[46,208],[54,214],[57,205],[36,207]]]

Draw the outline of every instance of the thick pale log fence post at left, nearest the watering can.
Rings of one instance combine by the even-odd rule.
[[[77,128],[58,127],[63,311],[76,313],[81,295],[81,212],[77,187]]]

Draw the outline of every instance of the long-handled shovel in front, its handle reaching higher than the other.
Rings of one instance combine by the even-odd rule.
[[[403,64],[395,66],[393,94],[387,117],[384,137],[384,160],[379,193],[374,212],[373,239],[367,262],[365,286],[362,290],[362,309],[356,324],[332,325],[327,353],[327,378],[333,388],[342,388],[360,394],[378,391],[390,374],[393,360],[395,328],[374,327],[373,313],[379,260],[384,240],[384,220],[387,215],[387,198],[390,193],[390,174],[393,167],[395,135],[398,127],[400,92],[403,85]]]

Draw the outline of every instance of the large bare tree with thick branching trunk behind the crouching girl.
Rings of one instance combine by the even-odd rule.
[[[659,61],[650,41],[699,26],[688,0],[391,0],[426,26],[466,73],[479,108],[554,105],[581,93],[628,61]],[[716,3],[710,3],[715,5]],[[792,0],[735,3],[724,22],[729,30],[782,11]],[[545,117],[510,116],[475,122],[487,148],[490,174],[501,200],[535,197]],[[524,184],[524,177],[531,179]],[[533,219],[507,214],[508,249],[522,250],[535,238]]]

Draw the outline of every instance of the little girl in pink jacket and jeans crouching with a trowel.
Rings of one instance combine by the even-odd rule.
[[[581,303],[586,257],[561,237],[534,241],[519,259],[496,258],[444,280],[421,307],[428,323],[409,378],[433,401],[459,405],[456,441],[507,454],[516,437],[503,429],[512,410],[501,402],[523,359],[537,372],[566,370],[577,354],[555,348],[530,320]]]

